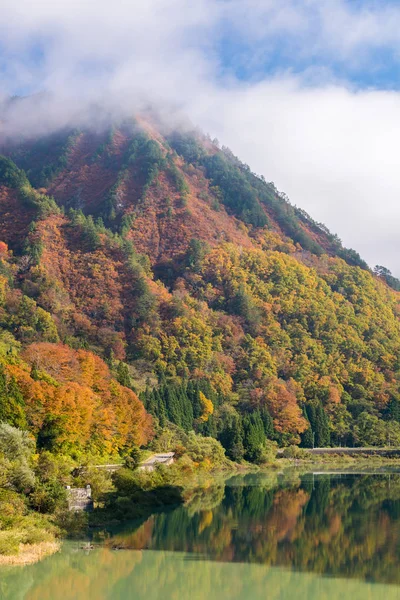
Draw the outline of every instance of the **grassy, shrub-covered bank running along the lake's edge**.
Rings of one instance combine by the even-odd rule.
[[[18,440],[21,445],[25,438]],[[88,461],[92,466],[86,464],[78,469],[70,458],[48,452],[24,459],[22,444],[20,458],[4,463],[8,471],[3,487],[0,485],[0,565],[36,562],[56,552],[63,538],[89,536],[100,540],[104,532],[107,534],[119,524],[145,521],[152,513],[180,504],[207,506],[224,493],[226,479],[234,475],[261,471],[274,479],[291,477],[294,472],[400,472],[400,458],[379,454],[315,455],[290,447],[275,457],[276,446],[271,446],[269,462],[256,466],[228,460],[213,438],[190,434],[185,435],[185,445],[171,446],[170,439],[168,442],[168,447],[176,452],[175,463],[159,465],[151,473],[137,469],[149,451],[129,455],[125,466],[111,473],[98,467],[98,457]],[[65,485],[84,487],[88,483],[94,511],[69,512]]]

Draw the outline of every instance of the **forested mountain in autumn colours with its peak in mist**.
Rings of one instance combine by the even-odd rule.
[[[142,115],[0,151],[1,420],[120,451],[139,395],[236,460],[400,443],[399,282],[227,148]]]

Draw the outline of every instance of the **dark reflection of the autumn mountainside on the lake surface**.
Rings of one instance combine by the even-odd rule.
[[[112,543],[400,582],[400,475],[235,479]]]

